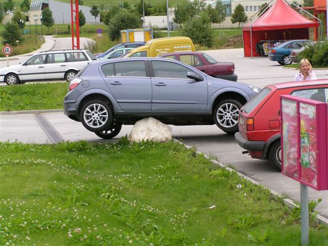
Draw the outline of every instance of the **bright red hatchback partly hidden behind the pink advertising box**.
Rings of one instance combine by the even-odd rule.
[[[328,103],[328,79],[266,86],[240,109],[239,132],[234,135],[252,158],[268,159],[278,170],[281,170],[280,95],[288,94]]]

